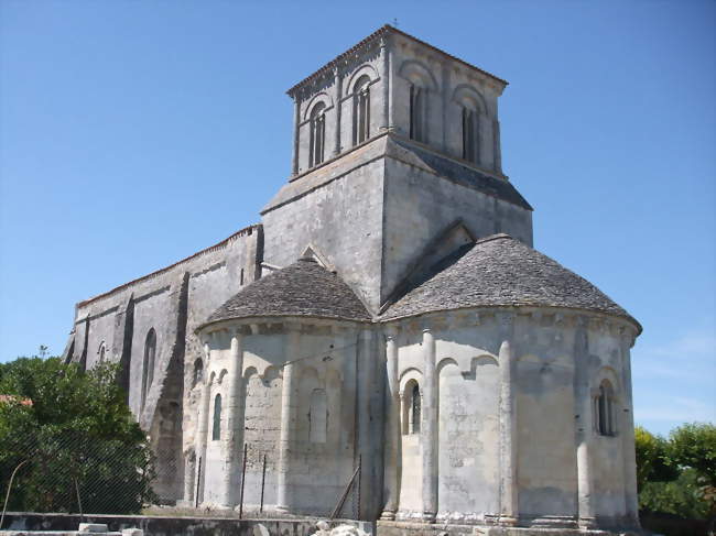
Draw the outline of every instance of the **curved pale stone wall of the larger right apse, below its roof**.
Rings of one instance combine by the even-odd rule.
[[[437,518],[457,524],[505,515],[528,526],[633,523],[631,393],[622,380],[636,336],[630,322],[523,307],[426,315],[391,329],[401,404],[397,518],[430,512],[430,485]],[[506,340],[511,350],[503,355]],[[432,435],[427,367],[437,389]],[[616,433],[606,435],[595,409],[603,379],[615,386]],[[406,423],[411,382],[422,398],[419,435]]]

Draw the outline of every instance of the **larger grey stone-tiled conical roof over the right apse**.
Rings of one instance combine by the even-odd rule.
[[[639,326],[592,283],[509,234],[487,237],[448,255],[381,318],[481,306],[586,309]]]

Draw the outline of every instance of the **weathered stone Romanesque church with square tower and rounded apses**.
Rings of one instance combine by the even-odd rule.
[[[638,528],[641,327],[532,248],[506,86],[381,28],[289,89],[260,223],[77,304],[66,360],[119,363],[163,502],[327,515],[360,462],[386,534]]]

